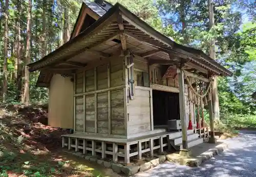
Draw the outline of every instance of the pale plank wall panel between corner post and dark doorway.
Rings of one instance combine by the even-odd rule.
[[[151,130],[150,90],[135,89],[135,99],[130,100],[128,135]]]

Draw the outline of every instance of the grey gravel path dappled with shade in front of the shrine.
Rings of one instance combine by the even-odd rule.
[[[256,176],[256,131],[242,130],[237,138],[225,140],[229,149],[206,161],[200,167],[187,167],[173,163],[137,173],[135,176]]]

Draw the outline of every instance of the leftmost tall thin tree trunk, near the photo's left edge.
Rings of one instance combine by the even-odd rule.
[[[8,85],[8,80],[7,80],[7,60],[8,60],[8,10],[9,10],[9,0],[5,1],[5,42],[4,42],[4,84],[3,84],[3,102],[6,101],[7,99],[7,85]]]

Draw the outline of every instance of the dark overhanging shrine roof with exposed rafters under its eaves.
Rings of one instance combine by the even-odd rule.
[[[88,4],[86,5],[88,6]],[[94,8],[95,11],[98,9],[98,14],[103,14],[104,11],[106,11],[106,9],[102,8],[97,3],[91,3],[89,6],[88,7],[91,9]],[[110,5],[108,4],[108,7],[109,6]],[[120,14],[123,19],[122,30],[120,30],[116,19],[118,14]],[[104,30],[109,30],[111,32],[107,34],[104,33]],[[217,73],[218,75],[229,76],[232,74],[229,70],[215,60],[212,60],[202,51],[179,45],[169,37],[156,31],[150,25],[146,24],[143,20],[118,3],[106,11],[93,25],[78,34],[76,37],[70,39],[70,41],[65,43],[63,46],[41,60],[30,63],[30,71],[40,70],[43,67],[49,67],[50,65],[67,61],[71,56],[95,47],[96,43],[99,43],[101,40],[108,37],[114,37],[119,33],[123,33],[136,40],[143,41],[147,45],[153,46],[154,48],[166,53],[178,54],[186,60],[188,59],[195,64],[207,67],[209,71]],[[104,36],[104,38],[102,36]]]

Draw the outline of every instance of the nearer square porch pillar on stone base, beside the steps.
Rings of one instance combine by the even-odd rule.
[[[187,145],[187,124],[186,124],[186,113],[185,113],[185,85],[184,85],[184,73],[182,70],[178,70],[179,76],[179,103],[180,103],[180,120],[182,130],[182,149],[180,154],[182,156],[189,156],[190,150]]]

